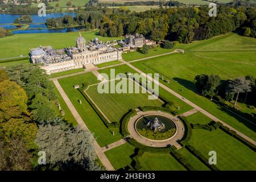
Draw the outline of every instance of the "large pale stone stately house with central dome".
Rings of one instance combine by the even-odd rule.
[[[101,64],[122,59],[122,50],[114,48],[116,42],[106,44],[97,38],[86,45],[81,36],[76,39],[76,47],[55,51],[51,46],[32,48],[29,56],[31,63],[43,64],[47,74],[63,72],[70,69],[86,68],[86,64]],[[117,44],[117,43],[116,43]]]

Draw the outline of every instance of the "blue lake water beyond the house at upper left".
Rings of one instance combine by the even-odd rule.
[[[8,30],[16,28],[13,25],[5,23],[13,23],[15,18],[19,18],[21,14],[0,14],[0,27],[6,28]],[[48,18],[59,18],[65,15],[75,16],[75,13],[51,13],[46,14],[46,17],[39,17],[37,14],[30,14],[32,18],[32,24],[29,24],[28,29],[38,28],[37,30],[14,30],[13,34],[39,34],[39,33],[64,33],[79,31],[82,27],[72,27],[72,28],[57,28],[57,29],[40,29],[47,28],[46,24],[35,24],[35,23],[46,23]],[[34,24],[33,24],[34,23]]]

